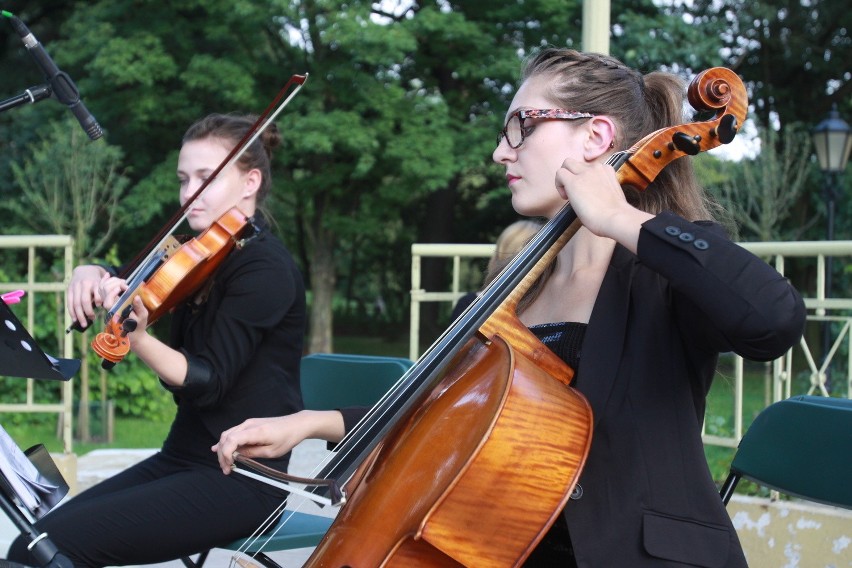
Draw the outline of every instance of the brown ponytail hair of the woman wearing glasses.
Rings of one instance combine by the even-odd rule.
[[[547,48],[527,60],[521,79],[532,77],[547,80],[547,95],[560,107],[610,117],[616,148],[684,122],[684,83],[670,73],[643,76],[608,55]],[[690,221],[714,219],[719,210],[698,185],[689,159],[669,164],[644,191],[625,193],[638,209],[668,210]]]

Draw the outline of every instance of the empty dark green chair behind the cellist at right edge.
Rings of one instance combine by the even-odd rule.
[[[768,406],[737,448],[720,490],[726,505],[741,478],[852,509],[852,400],[795,396]]]

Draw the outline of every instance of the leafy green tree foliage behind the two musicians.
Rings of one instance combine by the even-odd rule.
[[[333,288],[317,297],[369,304],[381,296],[396,324],[407,317],[408,271],[399,267],[408,265],[412,242],[488,242],[515,218],[490,155],[521,59],[544,45],[582,47],[579,0],[3,6],[75,78],[109,145],[123,153],[118,171],[129,181],[120,203],[130,218],[109,245],[120,259],[132,258],[176,209],[175,151],[187,125],[214,111],[258,112],[291,74],[309,72],[278,121],[284,146],[274,160],[270,203],[277,230],[306,276],[317,279],[309,284]],[[793,123],[815,124],[832,102],[852,116],[850,14],[842,2],[614,0],[611,14],[613,55],[684,78],[732,67],[746,81],[761,125],[784,132]],[[3,90],[39,80],[9,34],[0,44]],[[21,193],[9,162],[21,166],[44,125],[65,114],[53,101],[0,115],[3,201]],[[776,142],[778,156],[810,154],[804,143],[787,149],[783,136]],[[796,236],[824,214],[822,180],[812,168],[795,204],[779,207],[772,202],[789,191],[759,182],[762,167],[717,162],[703,172],[717,195],[728,184],[762,196],[757,208],[740,212],[745,236],[760,238],[758,228],[768,224],[781,237]],[[849,181],[842,183],[846,192]],[[773,209],[790,215],[769,223]],[[839,238],[852,234],[850,219],[852,200],[841,198]],[[821,237],[818,228],[805,236]],[[333,259],[329,272],[314,274],[325,258]]]

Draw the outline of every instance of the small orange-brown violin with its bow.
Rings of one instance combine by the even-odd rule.
[[[137,322],[129,316],[136,296],[142,299],[148,310],[149,325],[154,323],[196,294],[235,247],[241,247],[259,232],[253,219],[233,207],[195,238],[181,243],[174,236],[174,231],[186,219],[195,200],[203,195],[223,169],[237,163],[245,150],[299,92],[307,77],[307,73],[293,75],[287,81],[222,163],[122,272],[120,277],[127,281],[127,290],[107,311],[104,331],[92,340],[92,349],[103,359],[103,368],[111,369],[130,351],[127,335],[136,329]]]

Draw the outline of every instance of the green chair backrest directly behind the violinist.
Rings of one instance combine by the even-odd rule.
[[[305,408],[373,406],[413,365],[402,357],[313,353],[302,357]]]

